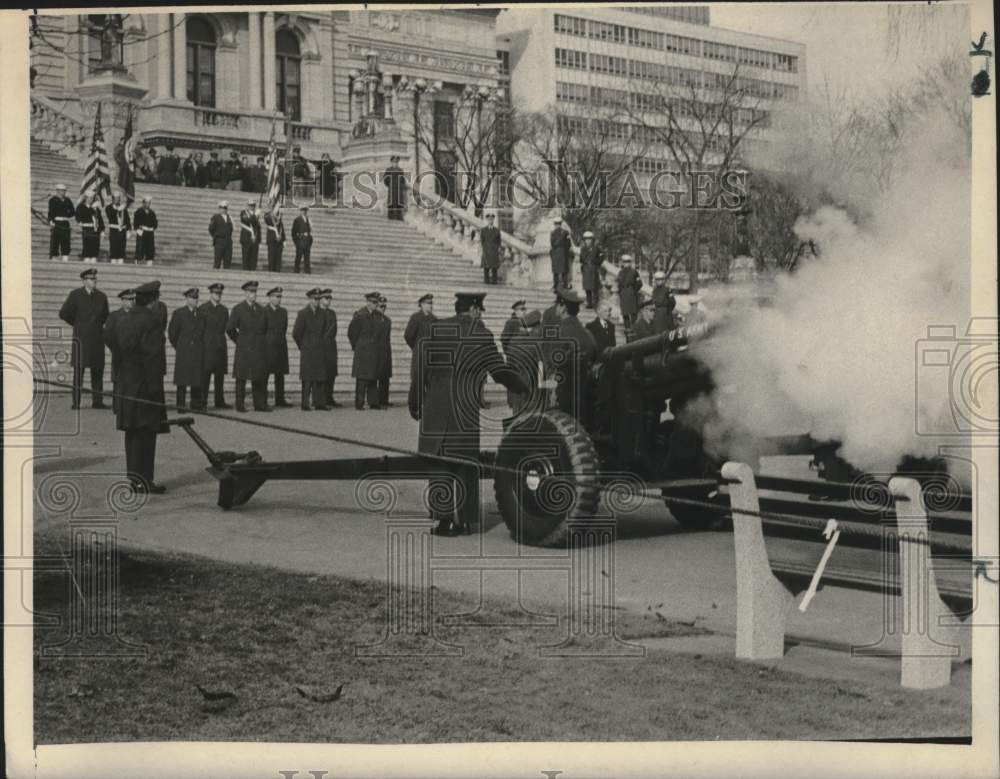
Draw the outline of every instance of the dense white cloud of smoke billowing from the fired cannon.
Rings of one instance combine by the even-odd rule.
[[[920,381],[915,354],[928,325],[961,334],[969,318],[968,140],[949,117],[925,115],[896,149],[887,188],[842,177],[846,208],[799,219],[820,257],[777,279],[773,305],[731,315],[732,335],[706,355],[735,388],[716,398],[710,446],[731,453],[743,436],[808,430],[841,441],[857,467],[887,471],[937,453],[942,440],[918,429],[954,427],[947,382]],[[801,161],[802,143],[794,153]]]

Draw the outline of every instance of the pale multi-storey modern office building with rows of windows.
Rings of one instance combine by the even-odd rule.
[[[735,74],[738,121],[758,119],[747,138],[766,142],[770,111],[805,90],[805,47],[709,21],[703,6],[507,9],[497,17],[497,37],[513,105],[554,110],[568,123],[617,122],[624,141],[642,131],[635,117],[657,98],[696,90],[710,103]],[[640,172],[670,167],[665,155],[650,146]]]

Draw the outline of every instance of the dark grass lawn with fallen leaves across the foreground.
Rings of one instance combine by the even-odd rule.
[[[38,554],[57,552],[36,538]],[[65,574],[36,572],[35,609],[67,614]],[[475,604],[435,590],[435,612]],[[503,611],[503,607],[497,607]],[[385,585],[122,552],[120,634],[144,658],[41,657],[35,739],[414,743],[966,736],[954,691],[813,679],[730,657],[539,657],[565,625],[438,625],[459,657],[357,657],[385,631]],[[508,612],[514,613],[514,612]],[[623,637],[696,631],[654,614]],[[210,701],[198,691],[231,693]],[[317,702],[301,694],[334,697]],[[959,699],[959,700],[956,700]]]

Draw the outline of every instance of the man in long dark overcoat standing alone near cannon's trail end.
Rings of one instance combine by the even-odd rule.
[[[115,327],[114,343],[121,356],[118,373],[116,427],[125,433],[125,467],[136,491],[160,494],[166,490],[153,481],[156,436],[169,432],[164,425],[167,409],[163,395],[163,331],[149,303],[160,282],[135,289],[135,305]],[[146,401],[146,402],[143,402]]]

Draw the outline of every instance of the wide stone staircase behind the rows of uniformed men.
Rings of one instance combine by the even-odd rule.
[[[44,143],[31,145],[31,200],[36,210],[45,213],[47,201],[57,183],[64,183],[70,197],[76,194],[82,177],[81,169],[72,161],[55,153]],[[258,270],[245,272],[240,267],[239,244],[234,246],[234,267],[228,271],[212,268],[212,246],[208,235],[208,220],[217,210],[219,200],[230,202],[230,212],[238,217],[249,198],[248,193],[155,184],[137,184],[137,195],[150,194],[160,228],[157,230],[157,261],[153,267],[110,265],[99,263],[98,286],[108,295],[112,309],[117,307],[117,293],[157,278],[162,282],[161,299],[172,311],[183,305],[183,290],[200,287],[207,299],[210,283],[226,285],[223,302],[230,308],[243,299],[240,285],[248,280],[260,283],[260,297],[274,286],[284,288],[283,304],[294,322],[295,313],[306,305],[306,291],[322,286],[333,289],[332,306],[338,314],[340,335],[340,379],[338,394],[353,392],[350,380],[352,352],[347,342],[347,325],[354,311],[364,304],[364,293],[379,290],[389,299],[388,315],[392,319],[393,382],[392,391],[398,396],[408,389],[410,350],[403,341],[403,329],[410,314],[416,310],[421,295],[432,292],[437,298],[437,313],[447,316],[454,311],[456,290],[474,289],[488,293],[485,322],[494,334],[500,334],[510,316],[511,304],[525,298],[530,308],[543,309],[551,302],[551,294],[541,289],[506,286],[484,287],[482,272],[451,249],[441,246],[403,222],[390,222],[384,215],[357,209],[310,209],[314,245],[313,273],[269,273],[265,252],[261,252]],[[241,203],[242,201],[242,203]],[[294,215],[286,214],[286,232],[291,232]],[[53,262],[48,259],[49,229],[41,221],[32,220],[32,332],[35,338],[49,342],[45,352],[68,350],[69,328],[58,318],[59,307],[66,294],[80,285],[79,273],[85,267],[80,262]],[[106,251],[107,241],[102,241]],[[74,230],[72,248],[80,249],[79,232]],[[129,242],[132,248],[132,241]],[[262,247],[263,248],[263,247]],[[284,265],[290,268],[294,260],[291,240],[285,245]],[[168,387],[172,378],[173,350],[167,349]],[[68,352],[67,352],[68,353]],[[230,360],[233,350],[230,349]],[[289,334],[291,372],[288,385],[292,394],[298,390],[299,354]],[[231,362],[230,362],[231,366]],[[53,364],[47,366],[56,368]]]

